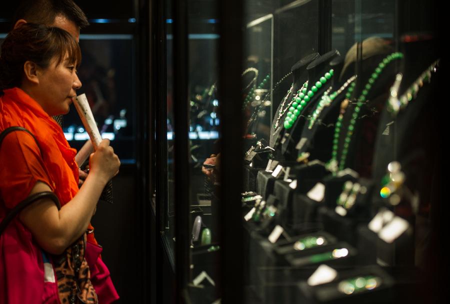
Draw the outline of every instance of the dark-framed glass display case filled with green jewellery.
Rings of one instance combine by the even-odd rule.
[[[231,4],[173,1],[164,19],[169,190],[155,205],[175,299],[427,299],[432,22],[388,0]]]

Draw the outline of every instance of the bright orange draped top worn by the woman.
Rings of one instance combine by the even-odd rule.
[[[69,202],[78,192],[78,167],[76,150],[70,148],[61,127],[17,87],[4,90],[0,98],[0,132],[10,126],[28,129],[39,146],[22,131],[4,138],[0,147],[0,195],[4,206],[12,208],[26,198],[38,180],[51,188],[61,206]],[[0,218],[7,212],[1,209],[4,207],[0,203]],[[87,237],[97,244],[93,233]]]

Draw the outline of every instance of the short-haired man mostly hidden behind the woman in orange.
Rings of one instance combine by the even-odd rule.
[[[84,12],[72,0],[23,0],[15,12],[13,27],[16,28],[26,22],[62,28],[78,42],[80,28],[89,25]],[[61,117],[54,118],[61,124]],[[86,177],[87,173],[80,169],[79,186]]]

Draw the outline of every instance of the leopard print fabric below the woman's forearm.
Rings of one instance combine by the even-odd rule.
[[[62,304],[98,304],[95,289],[90,282],[90,271],[84,258],[86,233],[65,252],[53,257],[54,272]]]

